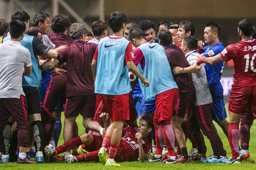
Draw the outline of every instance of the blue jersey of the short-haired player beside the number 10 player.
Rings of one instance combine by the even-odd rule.
[[[220,42],[212,46],[207,45],[206,47],[203,48],[204,50],[203,54],[205,57],[213,57],[221,53],[221,51],[223,51],[224,48],[225,47]],[[223,65],[224,65],[224,62],[219,62],[216,65],[207,65],[207,64],[204,65],[209,85],[219,82],[221,80]]]

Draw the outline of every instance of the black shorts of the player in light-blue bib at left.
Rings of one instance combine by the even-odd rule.
[[[41,113],[39,89],[36,87],[23,86],[23,91],[26,95],[28,104],[28,113],[35,114]]]

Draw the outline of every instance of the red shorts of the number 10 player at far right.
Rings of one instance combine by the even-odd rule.
[[[250,110],[256,118],[256,87],[247,86],[240,88],[232,88],[228,104],[228,110],[236,113],[245,113],[247,105],[250,105]]]

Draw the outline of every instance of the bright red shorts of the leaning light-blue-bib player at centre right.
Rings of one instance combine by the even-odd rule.
[[[179,97],[179,89],[173,88],[156,95],[156,111],[154,113],[154,124],[161,121],[171,122],[175,103]]]

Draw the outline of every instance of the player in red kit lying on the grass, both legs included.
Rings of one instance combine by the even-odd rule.
[[[102,113],[100,117],[102,120],[106,114]],[[151,143],[146,139],[153,127],[152,118],[149,116],[143,116],[138,127],[125,127],[122,130],[122,139],[119,148],[116,153],[116,161],[134,161],[140,158],[140,161],[148,159],[148,155],[151,149]],[[137,139],[136,139],[137,138]],[[76,139],[76,138],[75,138]],[[80,141],[78,140],[80,139]],[[77,161],[99,161],[98,152],[101,147],[102,138],[100,136],[91,135],[85,133],[82,136],[77,137],[77,140],[71,139],[70,141],[61,144],[55,150],[52,150],[49,146],[45,148],[47,156],[55,156],[65,150],[70,150],[80,144],[85,144],[85,150],[91,151],[79,156],[69,155],[66,159],[67,163],[73,163]],[[61,152],[60,152],[61,150]],[[105,164],[108,159],[108,155],[105,155],[100,161]]]

